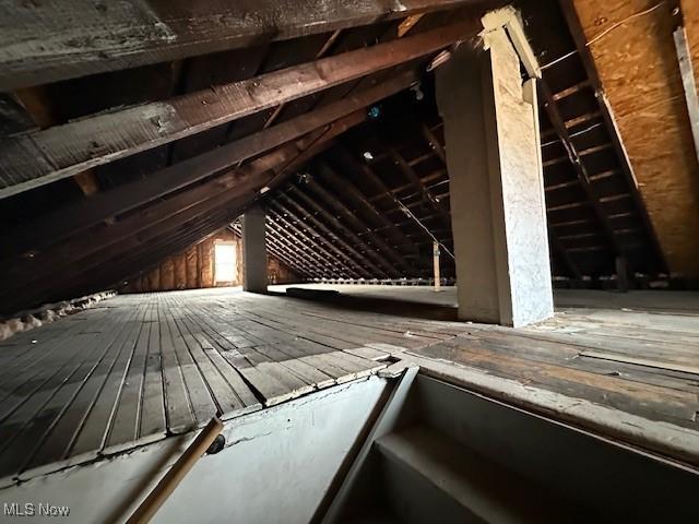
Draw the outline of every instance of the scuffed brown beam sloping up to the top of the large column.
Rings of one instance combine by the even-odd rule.
[[[0,199],[429,55],[470,37],[476,27],[459,22],[8,139],[0,143]]]

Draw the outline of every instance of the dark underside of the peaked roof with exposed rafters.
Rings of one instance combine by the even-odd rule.
[[[306,36],[291,16],[277,39],[260,29],[228,50],[209,35],[186,51],[145,47],[140,62],[79,53],[3,72],[0,314],[118,286],[258,201],[269,250],[305,277],[429,277],[435,241],[452,277],[447,144],[426,64],[454,34],[476,34],[484,2],[404,1],[407,12],[374,19],[337,3],[334,24],[295,29],[323,29]],[[521,7],[541,63],[576,50],[558,2]],[[664,271],[595,90],[582,53],[544,71],[554,273],[608,275],[619,255]]]

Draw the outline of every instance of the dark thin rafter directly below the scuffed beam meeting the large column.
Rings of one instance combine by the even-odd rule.
[[[54,213],[27,223],[22,231],[2,238],[10,253],[40,250],[95,226],[118,214],[161,199],[191,183],[238,165],[248,158],[347,117],[411,85],[413,73],[405,73],[374,87],[348,95],[336,103],[293,118],[286,122],[250,134],[230,144],[189,158],[149,175],[145,179],[125,183],[109,191],[82,199]]]

